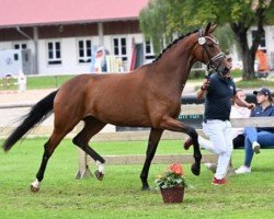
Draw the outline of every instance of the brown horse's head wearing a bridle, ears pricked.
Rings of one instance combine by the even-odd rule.
[[[207,24],[205,31],[198,31],[197,46],[194,47],[193,55],[196,60],[205,64],[207,69],[214,69],[221,76],[229,73],[231,62],[226,59],[219,48],[219,41],[213,35],[217,25]]]

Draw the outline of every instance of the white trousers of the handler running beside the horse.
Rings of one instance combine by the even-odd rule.
[[[221,180],[227,174],[233,150],[231,124],[229,120],[213,119],[202,125],[203,131],[209,140],[199,136],[198,143],[202,148],[219,155],[215,177]]]

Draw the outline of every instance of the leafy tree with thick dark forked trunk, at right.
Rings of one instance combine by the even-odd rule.
[[[195,14],[194,22],[216,20],[228,23],[240,48],[243,62],[243,79],[253,79],[255,53],[264,33],[263,26],[272,20],[273,2],[271,0],[189,0],[187,8]],[[191,14],[185,13],[187,18]],[[248,31],[255,27],[254,37],[249,45]]]

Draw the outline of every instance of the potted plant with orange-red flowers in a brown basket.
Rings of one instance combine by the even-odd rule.
[[[158,175],[156,184],[160,188],[163,203],[182,203],[186,187],[183,166],[172,163],[167,171]]]

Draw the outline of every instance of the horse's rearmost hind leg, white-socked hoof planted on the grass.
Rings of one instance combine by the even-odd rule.
[[[61,141],[61,139],[68,134],[69,131],[66,132],[58,132],[56,128],[54,129],[53,135],[50,136],[49,140],[44,145],[44,154],[42,158],[42,163],[39,166],[39,170],[36,174],[36,180],[31,184],[31,191],[32,192],[38,192],[39,191],[39,183],[44,178],[44,173],[46,170],[46,165],[48,162],[48,159],[52,157],[54,153],[55,149]]]

